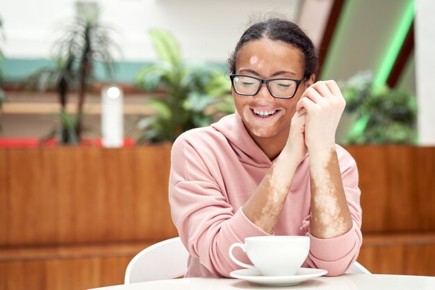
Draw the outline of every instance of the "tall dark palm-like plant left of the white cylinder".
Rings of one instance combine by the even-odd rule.
[[[60,104],[60,127],[46,138],[56,138],[60,144],[78,144],[83,131],[83,105],[86,92],[95,81],[97,61],[104,63],[108,76],[113,71],[111,51],[119,47],[111,38],[109,26],[101,24],[99,10],[82,10],[74,22],[65,27],[63,35],[54,42],[54,66],[43,67],[28,76],[26,84],[38,90],[56,89]],[[78,93],[75,114],[66,111],[71,90]]]

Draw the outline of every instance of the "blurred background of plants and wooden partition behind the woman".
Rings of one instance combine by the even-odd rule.
[[[299,24],[347,100],[361,264],[435,275],[435,4],[429,0],[0,0],[0,289],[121,284],[177,236],[171,143],[234,111],[249,24]]]

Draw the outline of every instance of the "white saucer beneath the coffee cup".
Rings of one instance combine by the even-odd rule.
[[[314,268],[299,268],[296,275],[291,276],[263,276],[255,268],[236,270],[229,273],[231,277],[267,286],[293,286],[327,274],[328,271]]]

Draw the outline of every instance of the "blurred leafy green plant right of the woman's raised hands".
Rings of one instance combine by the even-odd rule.
[[[372,74],[360,72],[342,82],[346,99],[339,131],[345,144],[416,143],[416,97],[410,92],[373,86]]]

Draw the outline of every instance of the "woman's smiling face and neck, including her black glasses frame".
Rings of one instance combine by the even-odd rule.
[[[295,105],[302,92],[313,82],[312,77],[309,83],[301,83],[305,79],[303,58],[300,49],[268,38],[251,40],[238,52],[237,74],[232,77],[233,90],[236,92],[234,102],[243,123],[249,127],[249,134],[270,159],[274,159],[286,144]],[[252,92],[236,82],[240,78],[246,81],[252,76],[269,80],[257,79],[256,90]],[[263,83],[266,86],[262,86]],[[282,89],[277,90],[277,83],[281,86],[283,83],[293,83],[293,86],[282,92]],[[295,94],[297,97],[294,97]],[[249,95],[252,97],[247,97]],[[269,114],[270,111],[274,113]],[[265,115],[267,118],[264,118]]]

